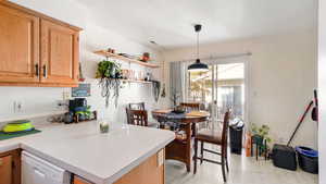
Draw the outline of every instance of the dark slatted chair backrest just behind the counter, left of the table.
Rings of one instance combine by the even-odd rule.
[[[131,110],[126,108],[128,124],[148,126],[148,115],[146,110]]]

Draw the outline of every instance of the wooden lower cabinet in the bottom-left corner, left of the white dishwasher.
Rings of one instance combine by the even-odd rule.
[[[21,184],[21,150],[0,154],[0,184]]]

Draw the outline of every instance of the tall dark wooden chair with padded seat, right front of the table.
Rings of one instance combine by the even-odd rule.
[[[201,130],[198,132],[198,134],[195,137],[195,156],[193,156],[193,174],[197,172],[197,160],[200,159],[200,162],[202,163],[203,161],[208,161],[211,163],[216,163],[222,165],[222,174],[223,174],[223,180],[226,182],[226,173],[225,173],[225,168],[228,172],[228,161],[227,161],[227,131],[228,131],[228,122],[229,122],[229,112],[227,111],[224,115],[224,121],[223,121],[223,127],[222,132],[221,131],[212,131],[212,130]],[[198,157],[198,142],[201,142],[201,147],[200,147],[200,157]],[[204,148],[204,143],[217,145],[221,147],[221,152],[205,149]],[[221,156],[221,161],[214,161],[210,159],[205,159],[203,157],[204,151],[210,152],[210,154],[215,154]]]

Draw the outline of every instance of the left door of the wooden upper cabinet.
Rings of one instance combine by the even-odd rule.
[[[0,3],[0,84],[39,82],[39,19]]]

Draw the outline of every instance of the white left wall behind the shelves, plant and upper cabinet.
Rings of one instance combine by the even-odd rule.
[[[93,109],[99,110],[100,118],[109,118],[113,122],[125,122],[126,115],[124,107],[126,103],[145,101],[148,109],[158,106],[152,97],[151,85],[130,84],[125,85],[122,89],[118,107],[115,109],[112,105],[106,109],[104,107],[104,99],[100,95],[100,88],[97,85],[98,82],[95,79],[97,63],[103,58],[93,54],[92,51],[109,47],[114,48],[118,52],[131,54],[141,54],[145,51],[149,51],[152,53],[151,57],[155,58],[158,63],[160,63],[162,59],[159,52],[114,33],[114,27],[112,27],[112,29],[104,29],[101,25],[96,25],[87,8],[78,3],[78,1],[12,1],[84,28],[80,33],[80,62],[87,83],[91,83],[91,97],[88,98],[88,103],[91,105]],[[112,19],[114,17],[112,16]],[[128,64],[124,63],[123,68],[128,68]],[[148,70],[134,64],[131,64],[131,69],[139,71]],[[154,70],[153,72],[155,78],[161,77],[160,70]],[[62,109],[57,108],[55,101],[62,99],[63,91],[71,91],[71,88],[0,87],[0,121],[24,115],[61,112]],[[14,100],[23,102],[23,112],[13,112]]]

